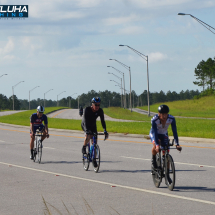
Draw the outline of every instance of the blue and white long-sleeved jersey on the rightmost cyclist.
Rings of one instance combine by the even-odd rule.
[[[176,122],[175,122],[175,117],[173,117],[172,115],[168,114],[168,118],[166,121],[166,124],[163,126],[161,124],[161,121],[158,117],[158,114],[156,114],[152,120],[151,120],[151,130],[150,130],[150,138],[152,140],[152,142],[154,141],[156,145],[159,145],[159,141],[158,139],[161,140],[161,145],[163,144],[167,144],[169,139],[168,139],[168,127],[171,124],[172,127],[172,132],[173,132],[173,136],[175,139],[175,144],[179,145],[178,143],[178,134],[177,134],[177,128],[176,128]]]

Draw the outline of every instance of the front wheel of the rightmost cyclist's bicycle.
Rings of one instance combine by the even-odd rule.
[[[165,181],[169,190],[172,191],[175,187],[175,165],[170,154],[165,159]]]

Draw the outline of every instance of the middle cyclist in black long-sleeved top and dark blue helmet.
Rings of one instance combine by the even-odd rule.
[[[92,100],[92,106],[86,107],[84,109],[84,116],[82,118],[81,127],[85,132],[85,140],[82,148],[82,153],[86,154],[86,146],[90,139],[93,138],[92,133],[97,133],[96,119],[100,116],[101,124],[104,129],[105,138],[108,138],[108,133],[106,131],[106,124],[104,120],[104,112],[100,108],[101,99],[99,97],[94,97]],[[97,167],[96,160],[93,160],[94,167]]]

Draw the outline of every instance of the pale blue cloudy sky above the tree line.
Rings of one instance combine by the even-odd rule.
[[[28,5],[25,19],[0,19],[0,93],[19,99],[76,98],[88,91],[137,95],[147,90],[147,64],[128,45],[148,56],[149,90],[202,90],[193,84],[201,60],[214,58],[215,34],[190,16],[215,27],[212,0],[0,0]],[[112,67],[107,67],[112,66]],[[53,89],[53,90],[51,90]],[[51,90],[51,91],[49,91]],[[49,91],[49,92],[48,92]],[[66,92],[64,92],[66,91]],[[95,95],[96,96],[96,95]]]

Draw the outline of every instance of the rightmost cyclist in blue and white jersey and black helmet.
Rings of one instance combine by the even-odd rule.
[[[152,165],[154,168],[157,168],[156,164],[156,154],[159,152],[160,147],[163,149],[163,146],[169,143],[168,136],[168,127],[171,125],[172,132],[175,140],[176,149],[178,151],[182,150],[182,147],[178,142],[178,134],[176,128],[175,117],[168,114],[169,107],[167,105],[160,105],[158,107],[158,114],[156,114],[151,120],[151,130],[149,136],[152,141]]]

